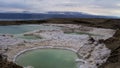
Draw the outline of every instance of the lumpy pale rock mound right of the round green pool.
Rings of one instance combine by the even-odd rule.
[[[82,57],[81,59],[84,60],[79,68],[98,68],[98,66],[106,62],[111,51],[106,48],[105,44],[100,44],[98,41],[95,41],[92,44],[85,43],[77,53]]]

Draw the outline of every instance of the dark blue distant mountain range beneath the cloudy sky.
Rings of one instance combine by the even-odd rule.
[[[80,12],[0,13],[0,20],[39,20],[49,18],[117,18],[117,17],[91,15]]]

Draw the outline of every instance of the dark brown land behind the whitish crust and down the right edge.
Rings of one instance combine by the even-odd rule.
[[[102,40],[111,50],[111,55],[107,62],[100,68],[119,68],[120,67],[120,19],[49,19],[41,21],[1,21],[0,25],[16,24],[41,24],[41,23],[73,23],[92,26],[97,28],[111,28],[117,30],[113,37]]]

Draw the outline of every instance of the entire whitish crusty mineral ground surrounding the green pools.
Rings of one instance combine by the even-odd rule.
[[[74,32],[80,32],[82,30],[82,32],[92,33],[95,34],[91,36],[95,41],[90,41],[90,36],[87,34],[65,34],[64,28],[62,30],[35,30],[23,34],[42,37],[40,40],[23,40],[16,39],[11,35],[0,35],[0,46],[20,44],[18,46],[10,46],[10,49],[6,52],[8,59],[14,59],[15,61],[16,55],[19,55],[31,48],[35,49],[41,47],[66,48],[68,50],[72,49],[74,52],[76,52],[77,55],[79,55],[79,59],[76,59],[76,62],[80,63],[79,68],[97,68],[106,62],[107,58],[109,57],[110,50],[106,48],[104,43],[99,43],[98,40],[112,37],[112,35],[115,33],[114,30],[98,29],[92,27],[83,28],[83,26],[73,24],[44,25],[59,26],[68,29],[72,28],[74,29]]]

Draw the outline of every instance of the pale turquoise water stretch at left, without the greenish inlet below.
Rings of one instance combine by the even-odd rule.
[[[33,30],[51,30],[51,29],[59,29],[59,27],[52,26],[43,26],[43,25],[9,25],[9,26],[0,26],[1,34],[21,34]]]

